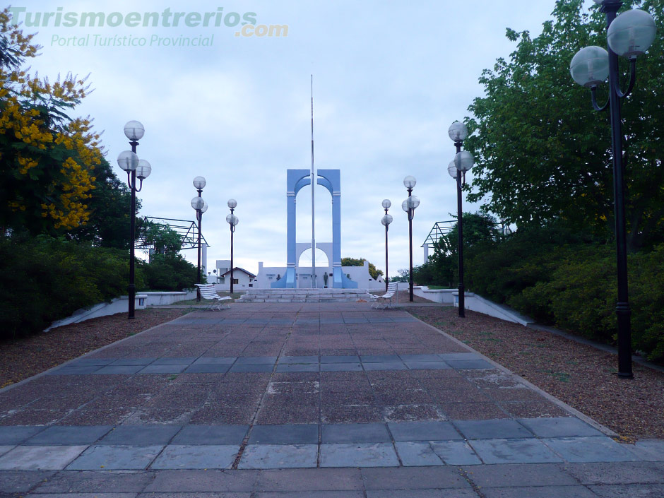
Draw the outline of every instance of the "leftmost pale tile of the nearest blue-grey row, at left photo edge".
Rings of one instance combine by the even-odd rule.
[[[88,446],[16,446],[0,456],[0,470],[62,470]]]

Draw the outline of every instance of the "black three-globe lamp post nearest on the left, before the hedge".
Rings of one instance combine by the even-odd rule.
[[[138,121],[129,121],[124,125],[124,135],[129,138],[131,150],[124,150],[118,155],[117,164],[127,173],[127,183],[131,191],[131,203],[129,207],[129,315],[128,319],[134,319],[136,309],[136,283],[135,283],[135,261],[134,246],[136,245],[136,192],[143,189],[143,180],[150,176],[152,167],[146,160],[138,160],[136,146],[143,138],[146,129]],[[136,179],[140,181],[136,188]]]

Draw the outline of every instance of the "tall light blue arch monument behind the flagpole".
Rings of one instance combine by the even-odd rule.
[[[295,242],[295,198],[302,187],[312,184],[312,170],[287,170],[287,268],[280,280],[271,283],[273,289],[295,289],[297,278],[295,268],[302,252],[307,249],[321,249],[332,262],[332,282],[334,289],[357,289],[357,282],[350,280],[341,269],[341,175],[340,170],[318,170],[317,184],[324,186],[332,196],[332,244],[297,244]],[[332,254],[330,253],[330,250]],[[331,257],[330,257],[331,256]],[[315,268],[314,268],[315,271]]]

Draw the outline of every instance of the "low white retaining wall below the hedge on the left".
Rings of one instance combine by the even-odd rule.
[[[196,297],[195,290],[188,290],[184,292],[137,292],[134,300],[135,309],[146,309],[148,306],[155,306],[157,304],[172,304],[178,301],[185,301],[194,299]],[[129,296],[116,297],[111,302],[101,302],[89,308],[77,309],[71,316],[67,318],[54,321],[49,328],[45,328],[45,332],[52,328],[61,327],[63,325],[78,324],[78,322],[98,318],[100,316],[114,315],[118,313],[126,313],[129,311]]]

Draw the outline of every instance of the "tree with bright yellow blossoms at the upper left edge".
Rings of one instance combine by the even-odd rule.
[[[0,229],[58,234],[85,225],[102,162],[90,119],[66,112],[85,97],[71,73],[54,83],[30,76],[41,48],[0,12]]]

